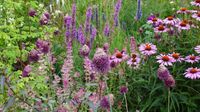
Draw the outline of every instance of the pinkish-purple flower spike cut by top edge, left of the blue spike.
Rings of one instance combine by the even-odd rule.
[[[119,24],[119,12],[121,9],[122,0],[118,0],[115,5],[115,12],[114,12],[114,26],[118,26]]]

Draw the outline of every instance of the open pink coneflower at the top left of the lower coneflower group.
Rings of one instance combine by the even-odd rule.
[[[139,51],[146,56],[150,56],[156,53],[157,48],[151,43],[141,44],[139,46]]]

